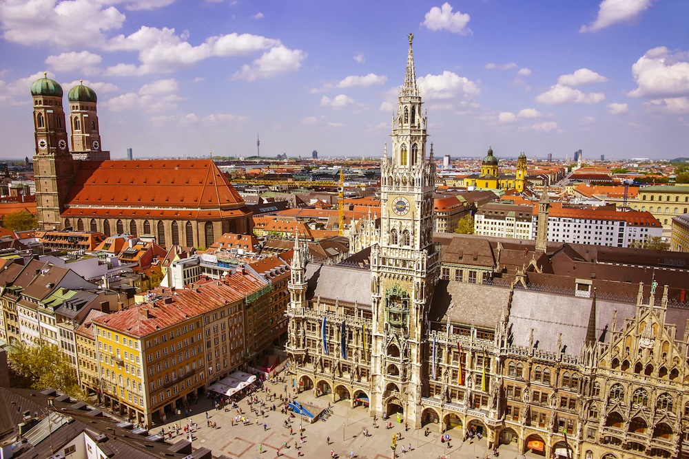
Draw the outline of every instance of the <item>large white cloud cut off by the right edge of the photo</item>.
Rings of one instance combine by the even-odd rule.
[[[689,52],[670,52],[664,46],[648,50],[632,65],[637,89],[627,95],[657,98],[689,95]]]

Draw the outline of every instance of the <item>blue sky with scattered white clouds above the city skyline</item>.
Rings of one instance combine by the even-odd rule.
[[[31,82],[99,97],[112,158],[381,156],[407,34],[436,156],[689,156],[689,1],[0,0],[2,158]],[[66,100],[65,100],[66,106]]]

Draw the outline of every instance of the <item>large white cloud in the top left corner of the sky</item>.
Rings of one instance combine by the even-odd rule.
[[[125,15],[92,0],[5,0],[0,2],[3,38],[22,45],[95,47],[104,32],[122,27]]]

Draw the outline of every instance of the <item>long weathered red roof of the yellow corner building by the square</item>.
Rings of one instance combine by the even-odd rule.
[[[197,317],[229,303],[240,301],[265,286],[248,274],[234,273],[219,281],[177,289],[175,295],[97,317],[94,323],[130,337],[141,338]]]

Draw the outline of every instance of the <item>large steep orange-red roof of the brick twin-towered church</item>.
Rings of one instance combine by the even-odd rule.
[[[70,188],[68,211],[63,215],[75,215],[72,212],[76,206],[94,205],[101,209],[174,205],[187,207],[192,213],[198,209],[212,209],[213,215],[199,212],[198,217],[217,217],[219,209],[240,209],[244,200],[212,160],[83,161]],[[79,211],[90,212],[90,209]],[[138,209],[122,210],[136,211]],[[112,217],[125,215],[119,210],[111,212]],[[175,216],[175,211],[171,212],[173,215],[158,215],[157,212],[153,215],[151,211],[150,216]],[[132,213],[126,216],[140,216]]]

